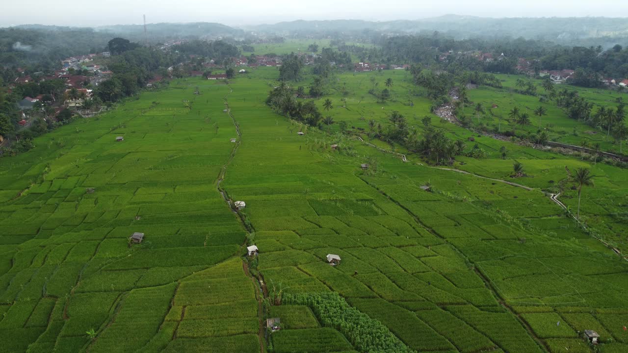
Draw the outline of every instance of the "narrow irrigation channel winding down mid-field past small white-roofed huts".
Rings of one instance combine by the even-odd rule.
[[[232,92],[233,92],[233,89],[229,86],[229,93],[227,93],[224,96],[224,101],[225,101],[224,104],[225,104],[225,111],[227,112],[227,114],[231,118],[231,121],[234,123],[234,126],[236,127],[237,139],[236,139],[234,148],[231,150],[229,159],[222,166],[222,169],[220,170],[218,179],[216,180],[216,189],[218,190],[220,195],[222,195],[223,200],[225,200],[225,202],[227,203],[227,206],[229,206],[232,212],[237,214],[238,219],[240,220],[240,222],[242,222],[242,226],[246,230],[247,234],[251,234],[251,231],[252,231],[251,226],[247,225],[247,223],[244,221],[244,216],[241,214],[241,212],[239,212],[238,209],[234,209],[234,207],[232,207],[232,205],[234,205],[233,200],[231,200],[231,198],[229,198],[229,196],[225,193],[225,190],[223,190],[222,187],[220,187],[220,183],[222,183],[222,180],[224,180],[225,178],[225,173],[227,172],[227,166],[229,166],[231,161],[234,159],[234,156],[236,156],[237,149],[239,148],[240,143],[242,142],[242,134],[240,132],[240,126],[237,124],[236,118],[231,113],[231,108],[229,107],[229,100],[227,100],[227,98],[229,97],[229,94],[231,94]],[[246,246],[247,241],[248,239],[244,241],[244,244],[242,244],[242,247]],[[264,317],[264,298],[266,297],[266,290],[264,290],[265,288],[264,281],[261,280],[260,278],[257,278],[257,276],[254,276],[251,274],[249,265],[246,263],[246,261],[242,261],[242,269],[244,270],[244,273],[247,276],[249,276],[249,278],[251,278],[251,281],[253,282],[253,286],[255,287],[255,296],[257,299],[257,322],[259,323],[259,330],[257,331],[257,339],[259,340],[259,352],[264,353],[264,323],[262,320],[262,318]]]

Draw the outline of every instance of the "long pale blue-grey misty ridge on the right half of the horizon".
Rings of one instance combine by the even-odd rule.
[[[248,27],[260,33],[276,35],[327,35],[377,31],[391,34],[413,34],[440,31],[457,39],[489,36],[522,36],[526,39],[554,41],[561,44],[582,43],[595,38],[595,45],[625,43],[628,21],[625,18],[481,18],[448,14],[414,21],[290,21]],[[593,43],[591,44],[593,45]]]

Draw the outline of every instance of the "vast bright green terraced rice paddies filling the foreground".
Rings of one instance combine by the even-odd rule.
[[[385,75],[411,94],[405,72]],[[562,164],[587,162],[508,143],[529,156],[534,178],[516,182],[534,190],[404,163],[271,112],[276,77],[174,81],[0,160],[0,351],[590,352],[584,329],[603,352],[628,350],[628,262],[540,191]],[[361,97],[368,77],[339,79],[355,94],[337,121],[386,119]],[[384,111],[429,111],[397,100]],[[495,179],[512,164],[460,160]],[[585,192],[622,202],[625,172],[593,167],[607,173]],[[246,208],[232,212],[217,184]],[[129,245],[133,232],[143,242]],[[252,244],[259,256],[244,258]],[[278,289],[284,305],[270,305]],[[267,317],[281,330],[267,333]]]

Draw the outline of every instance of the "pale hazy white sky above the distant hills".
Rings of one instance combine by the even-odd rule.
[[[230,26],[295,19],[420,19],[442,14],[487,17],[628,17],[625,0],[107,0],[59,3],[3,0],[0,26],[57,24],[100,26],[218,22]],[[628,19],[627,19],[628,20]]]

